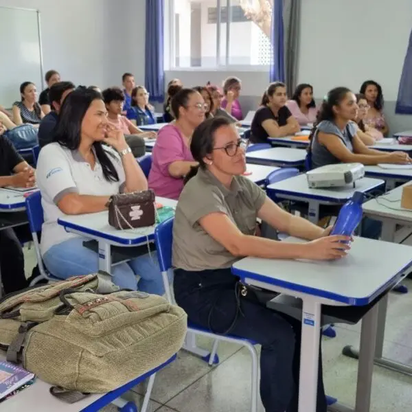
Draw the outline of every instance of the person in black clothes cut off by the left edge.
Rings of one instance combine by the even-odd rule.
[[[3,136],[0,123],[0,187],[32,187],[36,180],[34,170],[19,155],[11,141]],[[15,193],[14,193],[15,194]],[[10,196],[14,196],[10,192]],[[28,225],[15,229],[0,229],[0,273],[4,293],[12,293],[28,286],[24,271],[24,255],[18,236],[28,238]]]

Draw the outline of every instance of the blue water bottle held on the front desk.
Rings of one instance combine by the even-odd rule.
[[[361,223],[363,210],[362,203],[365,195],[362,192],[354,192],[352,199],[343,205],[336,219],[331,235],[352,236],[356,227]]]

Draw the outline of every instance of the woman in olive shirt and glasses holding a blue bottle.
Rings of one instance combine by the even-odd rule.
[[[198,168],[187,176],[173,227],[174,296],[195,324],[262,345],[260,396],[266,411],[297,412],[301,322],[267,309],[240,293],[231,266],[247,256],[270,259],[333,260],[346,255],[338,240],[308,220],[288,214],[242,176],[247,141],[223,117],[207,119],[194,131],[190,150]],[[191,177],[191,179],[190,179]],[[255,236],[257,219],[305,244]],[[275,264],[275,262],[274,262]],[[321,356],[317,412],[326,411]]]

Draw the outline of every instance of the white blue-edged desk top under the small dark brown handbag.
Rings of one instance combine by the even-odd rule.
[[[176,207],[177,201],[168,198],[157,197],[156,201],[163,206]],[[154,227],[141,227],[138,229],[117,230],[108,224],[108,211],[99,213],[65,216],[58,219],[58,224],[67,231],[82,233],[91,239],[102,238],[108,243],[135,245],[152,237]]]

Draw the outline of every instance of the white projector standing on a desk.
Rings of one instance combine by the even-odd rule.
[[[363,176],[365,176],[365,167],[361,163],[326,165],[306,173],[308,186],[311,188],[343,187],[354,184]]]

